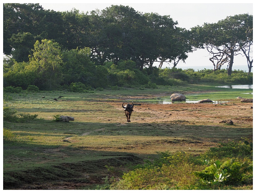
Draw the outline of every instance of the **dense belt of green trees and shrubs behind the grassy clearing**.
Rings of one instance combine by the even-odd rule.
[[[190,30],[177,24],[170,16],[122,5],[84,13],[3,3],[3,86],[84,92],[200,81],[252,83],[252,15],[227,16]],[[209,51],[213,69],[177,68],[196,49]],[[234,56],[241,53],[248,74],[232,70]],[[172,68],[162,69],[165,62]],[[221,69],[224,64],[227,69]]]

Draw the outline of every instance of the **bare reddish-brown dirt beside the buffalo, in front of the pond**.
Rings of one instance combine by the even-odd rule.
[[[231,100],[230,100],[231,101]],[[122,103],[110,102],[111,106],[122,110]],[[252,104],[241,103],[233,100],[225,104],[150,104],[140,103],[135,105],[131,115],[131,122],[136,123],[160,123],[170,122],[173,124],[219,124],[220,121],[230,119],[239,126],[252,126]]]

